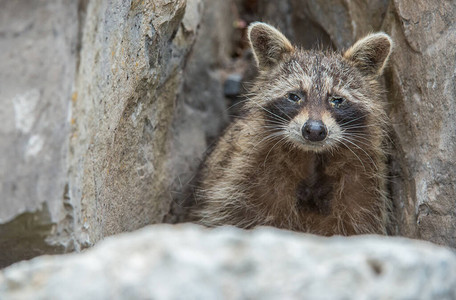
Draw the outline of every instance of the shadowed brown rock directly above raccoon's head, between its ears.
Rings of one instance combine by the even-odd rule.
[[[378,31],[388,0],[259,0],[259,14],[304,48],[346,49]],[[277,13],[279,11],[280,13]]]

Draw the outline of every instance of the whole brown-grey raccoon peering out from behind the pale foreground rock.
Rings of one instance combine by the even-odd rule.
[[[386,233],[387,117],[378,81],[384,33],[345,53],[303,51],[265,23],[249,27],[259,76],[207,157],[199,222],[321,235]]]

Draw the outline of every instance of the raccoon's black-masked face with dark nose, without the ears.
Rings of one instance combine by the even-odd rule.
[[[364,100],[369,90],[342,57],[297,53],[262,80],[257,103],[264,108],[267,128],[303,149],[351,146],[355,137],[359,141],[367,135],[367,119],[373,113]]]

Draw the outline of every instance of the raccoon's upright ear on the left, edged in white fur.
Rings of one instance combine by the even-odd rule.
[[[266,23],[252,23],[248,29],[248,37],[260,70],[275,66],[287,53],[294,51],[290,41]]]

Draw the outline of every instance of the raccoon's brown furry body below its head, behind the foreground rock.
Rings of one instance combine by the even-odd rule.
[[[260,147],[249,127],[233,124],[208,157],[197,192],[200,223],[321,235],[385,233],[378,178],[359,174],[344,153]]]

